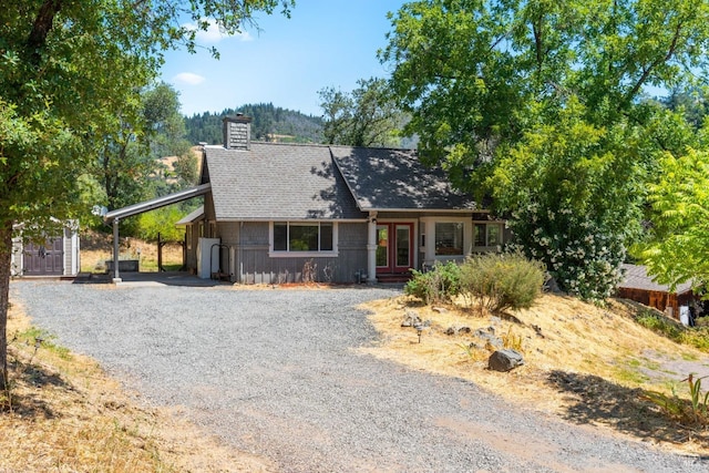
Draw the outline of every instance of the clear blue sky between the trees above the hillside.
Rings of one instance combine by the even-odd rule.
[[[257,13],[260,32],[247,28],[226,38],[201,34],[220,59],[204,50],[166,55],[162,79],[178,92],[185,115],[268,103],[320,115],[318,91],[349,92],[358,79],[387,76],[377,50],[391,31],[387,12],[403,0],[296,0],[291,18]]]

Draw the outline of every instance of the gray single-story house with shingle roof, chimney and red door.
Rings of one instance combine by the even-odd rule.
[[[403,280],[412,268],[497,250],[508,236],[414,151],[256,143],[245,116],[224,119],[223,132],[224,146],[203,148],[193,192],[204,206],[178,223],[185,265],[199,277]],[[106,222],[154,206],[114,210]]]

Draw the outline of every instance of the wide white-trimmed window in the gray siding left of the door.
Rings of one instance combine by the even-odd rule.
[[[331,223],[274,223],[274,251],[332,251]]]

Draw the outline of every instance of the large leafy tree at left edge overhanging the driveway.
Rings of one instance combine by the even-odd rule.
[[[0,9],[0,389],[7,388],[12,227],[75,215],[76,179],[112,110],[135,100],[163,51],[194,51],[216,21],[239,31],[294,0],[7,0]],[[194,25],[187,24],[191,20]],[[113,130],[115,131],[115,128]],[[74,205],[72,205],[74,204]]]

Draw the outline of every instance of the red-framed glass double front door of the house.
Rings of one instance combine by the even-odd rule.
[[[409,273],[413,267],[413,224],[377,225],[377,273]]]

